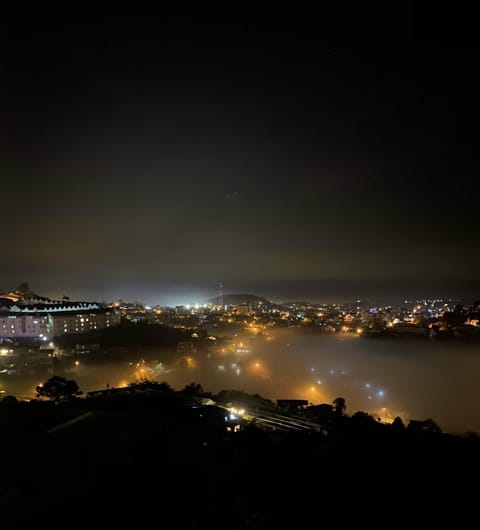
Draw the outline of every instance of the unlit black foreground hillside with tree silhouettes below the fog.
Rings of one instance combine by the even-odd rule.
[[[372,506],[385,495],[479,493],[470,480],[480,471],[476,436],[362,414],[327,423],[308,431],[235,423],[224,407],[166,386],[60,405],[7,399],[2,521],[9,529],[259,529],[318,517],[335,498]]]

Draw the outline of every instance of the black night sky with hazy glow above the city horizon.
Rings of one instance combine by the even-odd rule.
[[[478,48],[408,5],[3,17],[0,289],[478,297]]]

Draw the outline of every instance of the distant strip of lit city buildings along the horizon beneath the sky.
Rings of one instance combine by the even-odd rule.
[[[213,353],[242,353],[245,346],[230,340],[249,336],[269,340],[274,329],[315,333],[348,333],[365,337],[422,336],[431,340],[480,338],[480,301],[463,305],[459,299],[405,300],[398,307],[351,303],[279,304],[253,294],[220,294],[204,304],[145,305],[140,302],[52,300],[37,295],[28,284],[0,294],[0,373],[51,371],[55,358],[67,353],[58,342],[90,339],[123,324],[163,326],[182,332],[180,354],[197,351],[207,342]],[[230,338],[228,338],[230,337]]]

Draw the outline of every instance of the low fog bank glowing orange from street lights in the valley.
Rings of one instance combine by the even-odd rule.
[[[210,357],[195,353],[161,366],[147,362],[143,375],[175,389],[195,381],[213,393],[231,388],[273,400],[331,403],[342,396],[347,413],[364,410],[384,419],[432,418],[445,431],[480,433],[479,344],[287,330],[275,331],[271,341],[245,340],[249,353]],[[88,391],[124,385],[140,374],[128,363],[112,363],[81,365],[65,375]],[[9,393],[20,395],[27,395],[39,382],[2,379]]]

